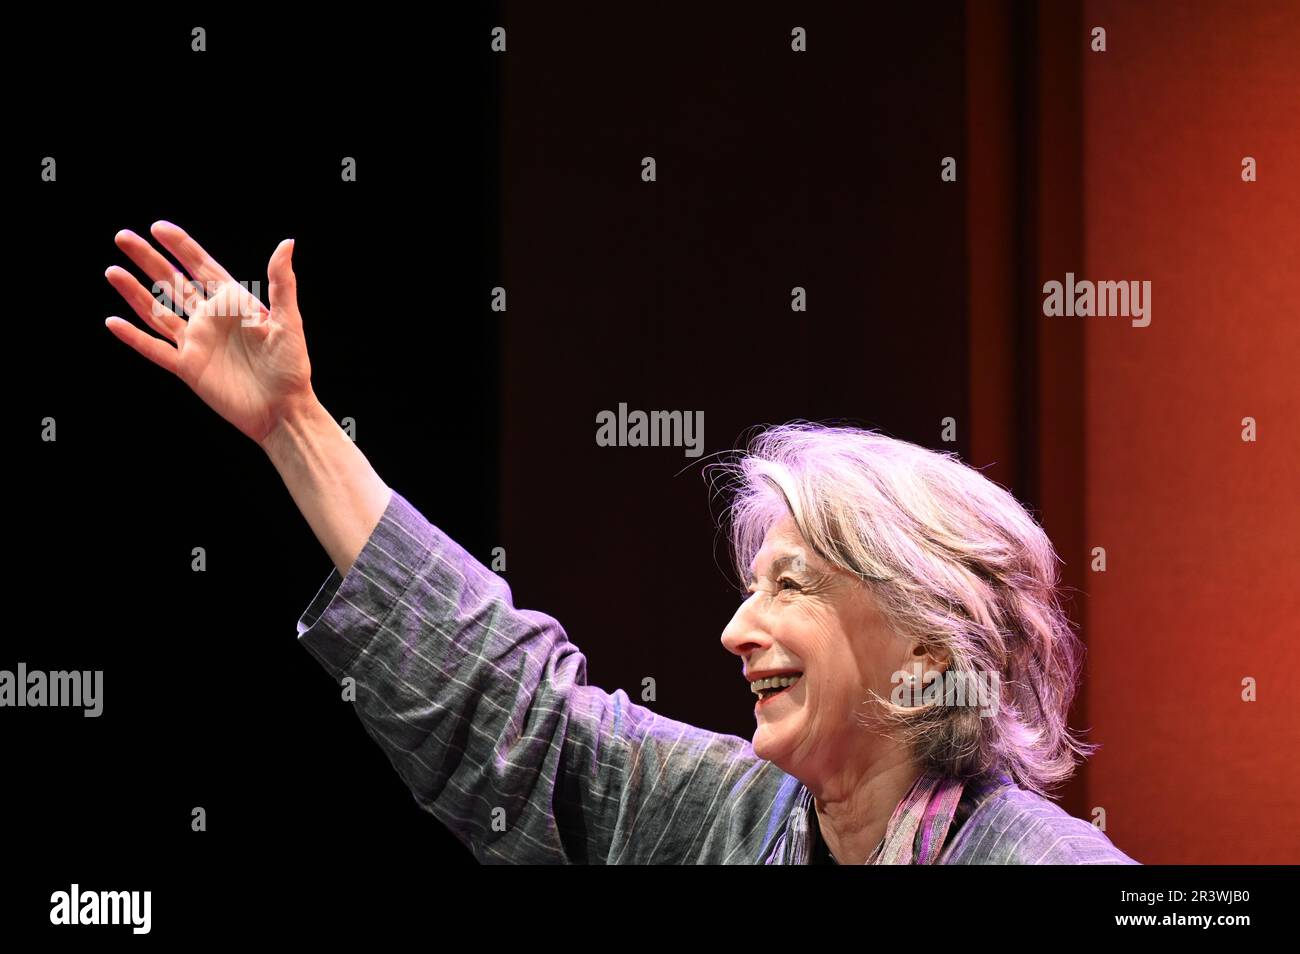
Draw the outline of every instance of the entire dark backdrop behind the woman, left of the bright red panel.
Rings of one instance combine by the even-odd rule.
[[[651,676],[673,719],[753,729],[701,469],[757,425],[956,451],[1046,503],[1079,586],[1083,331],[1040,341],[1035,309],[1083,243],[1080,5],[504,8],[14,29],[9,281],[38,294],[9,316],[0,667],[105,673],[99,719],[4,714],[25,910],[74,872],[134,877],[157,932],[202,914],[186,886],[213,871],[291,896],[471,862],[295,645],[330,567],[269,461],[104,328],[133,317],[103,277],[135,270],[122,227],[174,221],[263,290],[295,238],[326,408],[429,520],[485,561],[506,548],[516,603],[564,624],[593,684],[640,699]],[[816,56],[789,52],[794,23]],[[706,456],[597,447],[620,402],[703,411]],[[1063,805],[1086,812],[1082,782]]]

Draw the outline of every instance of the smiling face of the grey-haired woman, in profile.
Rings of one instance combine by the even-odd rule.
[[[876,704],[868,690],[888,699],[890,677],[926,660],[861,581],[807,546],[793,517],[768,530],[751,572],[723,646],[744,660],[750,682],[770,669],[802,673],[767,701],[754,697],[754,754],[805,782],[850,776],[892,746],[863,727]]]

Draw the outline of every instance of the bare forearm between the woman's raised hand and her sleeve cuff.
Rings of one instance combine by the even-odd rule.
[[[387,508],[389,486],[315,394],[286,413],[261,447],[346,576]]]

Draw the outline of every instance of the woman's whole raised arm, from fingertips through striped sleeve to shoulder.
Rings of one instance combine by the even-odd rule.
[[[179,376],[256,441],[334,561],[299,621],[416,802],[484,862],[751,863],[793,780],[749,742],[586,685],[560,625],[391,491],[316,400],[292,242],[268,265],[270,308],[181,229],[153,237],[205,285],[159,305],[108,279],[162,338],[118,317],[121,341]],[[117,244],[156,282],[182,276],[130,231]]]

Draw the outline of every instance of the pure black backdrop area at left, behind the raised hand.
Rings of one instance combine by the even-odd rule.
[[[173,12],[10,38],[31,52],[9,66],[12,279],[38,294],[9,316],[5,387],[58,439],[26,429],[6,468],[0,667],[104,671],[98,719],[5,710],[5,838],[39,872],[22,920],[48,923],[73,880],[152,888],[157,933],[211,919],[194,890],[217,872],[274,905],[313,872],[472,860],[295,643],[330,561],[274,468],[112,335],[105,316],[138,318],[103,273],[143,277],[113,235],[168,218],[265,300],[270,252],[295,238],[317,394],[389,483],[484,552],[499,538],[498,19]],[[44,156],[55,183],[30,174]]]

